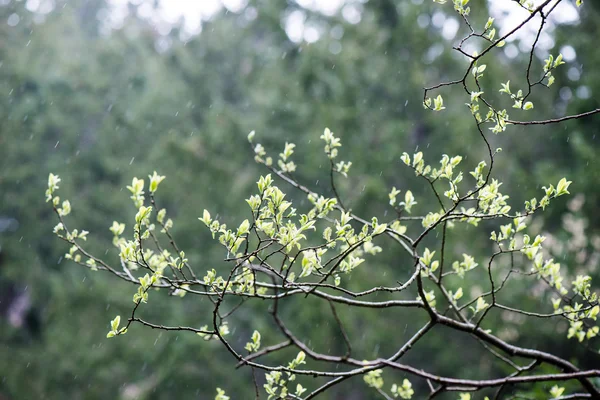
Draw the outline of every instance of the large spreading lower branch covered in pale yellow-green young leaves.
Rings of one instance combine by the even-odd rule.
[[[325,130],[321,138],[325,143],[325,154],[329,158],[335,158],[337,148],[341,146],[340,140],[329,129]],[[254,133],[251,133],[248,139],[253,143]],[[293,394],[288,388],[289,383],[296,379],[296,375],[336,376],[336,374],[331,375],[332,372],[326,370],[301,369],[300,366],[306,363],[306,354],[315,360],[358,366],[358,369],[339,373],[339,376],[364,374],[365,382],[369,386],[383,391],[384,380],[381,367],[407,371],[406,368],[409,367],[398,364],[397,360],[437,323],[459,330],[471,331],[481,340],[490,343],[500,340],[494,337],[489,329],[482,330],[480,328],[490,310],[499,308],[524,315],[531,314],[525,310],[511,309],[498,300],[497,295],[509,281],[511,274],[531,275],[546,282],[550,288],[556,289],[562,297],[552,301],[554,313],[545,316],[566,318],[571,324],[568,338],[576,337],[579,341],[583,341],[584,339],[591,340],[597,335],[598,326],[590,325],[591,322],[596,321],[600,308],[597,295],[591,289],[591,277],[579,276],[572,283],[573,295],[566,297],[570,291],[563,284],[560,265],[543,256],[544,237],[538,235],[532,241],[529,235],[522,233],[526,232],[526,221],[530,215],[545,209],[551,200],[569,193],[570,182],[566,179],[561,179],[556,188],[553,185],[545,187],[541,200],[531,199],[526,202],[523,211],[511,214],[511,207],[507,204],[508,196],[499,192],[501,183],[492,179],[489,172],[484,174],[485,162],[480,162],[477,168],[470,173],[475,180],[472,187],[468,190],[461,190],[459,184],[462,182],[463,171],[458,170],[461,162],[460,156],[450,158],[444,155],[440,161],[440,167],[433,168],[425,164],[421,152],[416,153],[412,159],[405,153],[402,156],[403,161],[414,170],[417,176],[429,182],[441,207],[439,212],[429,212],[424,216],[416,217],[421,221],[421,229],[408,230],[407,226],[402,225],[403,221],[406,222],[403,212],[412,213],[413,207],[417,205],[412,192],[407,190],[404,201],[398,203],[397,207],[396,198],[400,191],[393,188],[389,193],[390,204],[395,206],[398,212],[398,217],[394,220],[380,223],[376,217],[371,218],[370,221],[363,219],[350,210],[344,209],[338,199],[318,195],[290,177],[291,171],[288,166],[292,162],[290,157],[293,154],[293,147],[289,143],[286,144],[284,151],[280,154],[280,161],[282,161],[278,163],[280,169],[276,169],[269,158],[265,157],[264,147],[260,144],[253,144],[256,160],[263,163],[280,179],[304,191],[312,207],[307,212],[300,213],[293,207],[292,202],[285,200],[286,194],[275,186],[274,180],[269,174],[260,177],[257,182],[258,192],[246,200],[250,208],[251,219],[243,220],[237,228],[228,228],[226,224],[213,218],[210,212],[205,210],[202,217],[198,219],[210,230],[213,238],[223,246],[225,259],[232,264],[232,267],[226,275],[218,275],[215,269],[208,270],[201,279],[196,278],[196,271],[188,263],[185,253],[179,250],[172,241],[169,229],[173,222],[165,221],[166,210],[161,209],[156,217],[152,218],[153,207],[156,207],[157,204],[154,197],[155,192],[164,177],[159,176],[156,172],[149,176],[149,199],[145,197],[144,180],[134,178],[132,184],[128,186],[132,193],[131,199],[138,211],[134,218],[133,240],[127,240],[120,236],[124,232],[123,223],[115,221],[110,227],[114,234],[113,243],[120,250],[122,271],[117,271],[103,260],[84,250],[81,241],[86,239],[87,232],[70,231],[66,228],[64,217],[69,214],[70,207],[65,207],[64,202],[62,207],[59,206],[60,198],[56,192],[60,178],[53,174],[50,175],[47,201],[53,204],[56,215],[60,219],[55,232],[72,246],[67,257],[83,266],[91,268],[93,265],[94,270],[108,270],[121,279],[138,285],[138,290],[133,298],[135,306],[128,318],[127,325],[119,328],[120,316],[117,316],[111,323],[108,337],[125,334],[133,322],[156,327],[136,316],[140,304],[148,301],[150,289],[168,290],[172,294],[192,293],[206,296],[214,305],[213,320],[210,325],[200,328],[164,326],[161,328],[192,331],[206,340],[220,340],[240,363],[265,370],[264,389],[269,399],[287,398],[288,396],[308,399],[325,390],[331,383],[316,388],[308,394],[308,397],[302,397],[306,389],[301,384],[296,385]],[[333,163],[331,168],[332,172],[345,172],[338,170]],[[450,189],[444,193],[446,201],[442,200],[438,192],[438,186],[443,181],[450,185]],[[146,203],[149,205],[145,205]],[[474,206],[468,209],[459,208],[468,203],[474,203]],[[477,225],[484,219],[509,219],[511,222],[499,225],[499,230],[493,231],[490,236],[497,246],[497,251],[491,256],[487,265],[490,291],[461,301],[468,286],[466,288],[458,286],[449,290],[445,283],[445,280],[448,279],[446,277],[456,275],[468,285],[468,273],[476,269],[479,263],[473,256],[463,254],[462,261],[452,262],[452,271],[444,272],[443,247],[440,259],[435,257],[437,250],[425,248],[419,252],[418,247],[422,240],[436,229],[443,228],[445,238],[447,232],[450,232],[447,229],[452,230],[457,223]],[[160,238],[155,233],[156,225],[153,221],[162,227],[160,234],[172,243],[178,252],[178,257],[172,257],[162,247]],[[345,288],[343,282],[346,279],[343,279],[343,276],[350,277],[356,268],[365,263],[367,254],[375,255],[383,250],[382,246],[374,244],[374,241],[380,236],[391,238],[412,257],[412,271],[410,269],[407,271],[410,278],[404,284],[396,287],[375,287],[361,293],[355,293]],[[492,269],[498,263],[500,256],[509,255],[514,261],[514,255],[518,253],[522,253],[526,259],[532,261],[530,272],[513,266],[501,279],[501,282],[497,282]],[[142,276],[142,274],[144,275]],[[193,289],[196,287],[199,289]],[[365,296],[379,291],[410,293],[411,290],[416,291],[416,300],[391,300],[384,303],[352,300],[352,297]],[[338,294],[335,294],[336,292]],[[348,356],[331,357],[310,350],[293,332],[287,329],[278,316],[277,308],[281,299],[294,295],[316,296],[332,304],[339,303],[359,307],[416,307],[427,312],[430,315],[430,321],[411,340],[403,344],[396,355],[386,360],[355,360],[349,356],[350,344],[348,344]],[[233,344],[226,339],[230,333],[227,318],[233,311],[223,315],[220,310],[225,299],[230,296],[273,302],[273,317],[277,326],[288,341],[300,349],[296,358],[287,366],[269,366],[253,361],[261,355],[284,347],[274,345],[268,351],[261,351],[262,335],[257,330],[252,334],[251,341],[245,346],[245,350],[249,352],[247,356],[243,356],[236,350]],[[580,302],[575,302],[576,297],[580,299]],[[562,308],[560,307],[561,300],[567,303]],[[470,316],[465,315],[463,311],[467,308],[471,310]],[[448,311],[455,313],[456,319],[446,317]],[[341,322],[338,321],[338,323],[343,329]],[[519,354],[523,356],[526,352],[523,351],[523,354]],[[536,362],[544,360],[552,364],[544,356],[540,357],[541,359],[533,358]],[[554,364],[562,366],[560,362],[554,361]],[[410,369],[408,372],[414,373]],[[415,374],[419,376],[418,373]],[[456,390],[448,386],[446,382],[448,378],[436,377],[436,379],[440,385],[435,389],[436,391]],[[335,382],[335,379],[331,382]],[[463,383],[467,386],[471,385],[473,388],[484,386],[483,383],[472,383],[468,380]],[[393,384],[390,393],[394,397],[411,398],[414,391],[410,381],[405,379],[401,385]],[[218,396],[223,396],[223,394],[218,394]]]

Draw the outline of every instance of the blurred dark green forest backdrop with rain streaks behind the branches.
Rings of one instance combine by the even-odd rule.
[[[491,14],[505,32],[523,16],[511,2],[476,3],[477,26]],[[593,1],[579,13],[571,2],[561,7],[542,35],[534,70],[541,71],[549,52],[562,52],[567,64],[554,86],[534,93],[534,111],[513,110],[515,119],[600,107],[600,7]],[[297,179],[328,193],[328,162],[318,138],[329,127],[342,138],[342,158],[354,163],[339,185],[356,213],[384,218],[392,186],[412,189],[419,210],[429,211],[434,199],[403,167],[402,152],[424,150],[432,163],[445,153],[460,154],[469,169],[485,157],[460,88],[441,92],[444,113],[426,112],[421,104],[424,86],[463,74],[466,62],[451,47],[465,32],[451,4],[429,0],[0,0],[0,398],[212,399],[217,386],[232,399],[251,398],[250,371],[235,370],[218,343],[140,326],[107,341],[110,319],[127,313],[135,288],[63,259],[68,247],[52,234],[56,221],[44,202],[48,173],[63,179],[61,196],[74,208],[71,226],[89,230],[89,248],[108,252],[113,261],[108,227],[134,214],[123,188],[133,176],[166,175],[159,199],[199,271],[226,265],[197,217],[207,208],[226,222],[247,218],[243,199],[265,173],[246,140],[251,130],[274,154],[286,141],[296,143]],[[532,41],[525,30],[488,56],[490,93],[500,81],[523,85]],[[584,269],[600,279],[599,127],[600,117],[591,117],[511,127],[490,138],[504,150],[496,176],[512,204],[538,196],[542,184],[563,176],[574,181],[573,195],[532,223],[534,232],[549,237],[549,251],[567,279]],[[288,196],[305,202],[291,189]],[[450,254],[466,251],[483,265],[493,225],[460,229],[448,243]],[[384,248],[350,285],[401,279],[400,253]],[[474,293],[481,290],[485,276],[470,279]],[[535,280],[515,281],[503,296],[525,309],[550,307]],[[191,296],[157,295],[143,315],[199,326],[209,309]],[[247,310],[230,322],[236,343],[243,346],[254,329],[263,343],[277,342],[264,308]],[[290,303],[284,312],[316,349],[344,350],[323,305]],[[400,311],[340,313],[365,358],[388,354],[426,318]],[[597,354],[564,338],[566,324],[502,313],[489,324],[514,343],[581,365],[600,363]],[[503,371],[476,342],[442,329],[406,362],[449,376]],[[303,384],[314,388],[314,382]],[[426,383],[413,384],[422,398]],[[545,398],[544,388],[522,389]],[[357,378],[321,397],[377,396]]]

